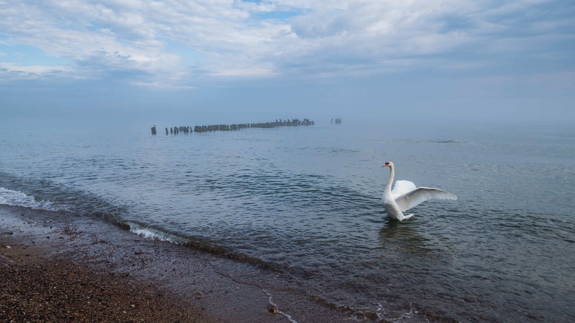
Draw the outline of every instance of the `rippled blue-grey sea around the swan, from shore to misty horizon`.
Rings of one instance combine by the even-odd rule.
[[[380,318],[417,304],[461,322],[575,321],[573,127],[164,126],[4,126],[0,203],[243,254]],[[390,221],[388,160],[396,180],[459,199]]]

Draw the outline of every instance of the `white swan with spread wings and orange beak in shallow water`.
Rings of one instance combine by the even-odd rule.
[[[397,180],[392,190],[394,175],[393,163],[388,161],[382,167],[386,166],[389,166],[389,180],[388,185],[385,187],[384,196],[381,198],[381,203],[384,205],[385,212],[388,213],[388,216],[394,220],[401,221],[411,218],[413,213],[404,216],[403,212],[430,198],[457,199],[455,194],[444,190],[431,189],[430,187],[423,186],[415,187],[415,184],[409,182],[409,180]]]

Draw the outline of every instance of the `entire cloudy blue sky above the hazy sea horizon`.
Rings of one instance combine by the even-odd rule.
[[[575,2],[0,0],[0,114],[575,123]]]

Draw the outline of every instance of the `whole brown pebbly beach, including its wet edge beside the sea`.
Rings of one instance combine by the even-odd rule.
[[[308,299],[281,273],[101,217],[0,205],[0,243],[14,261],[0,265],[6,322],[375,321]]]

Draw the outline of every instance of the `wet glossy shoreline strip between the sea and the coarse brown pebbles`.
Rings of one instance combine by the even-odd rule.
[[[2,247],[3,255],[14,260],[7,266],[24,266],[35,259],[40,267],[56,272],[62,264],[77,265],[86,268],[91,275],[87,279],[108,277],[149,286],[179,309],[172,312],[183,313],[181,322],[192,317],[195,322],[375,321],[321,303],[297,282],[257,264],[143,239],[105,218],[0,205],[0,219],[0,241],[13,245]],[[116,312],[110,315],[122,316]],[[411,313],[402,321],[428,319]]]

